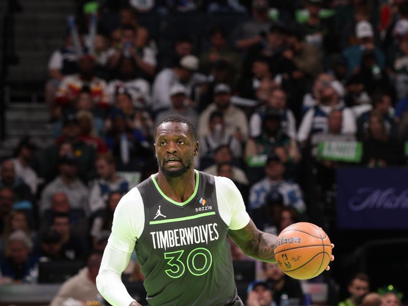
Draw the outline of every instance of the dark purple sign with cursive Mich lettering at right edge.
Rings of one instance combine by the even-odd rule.
[[[408,169],[337,171],[339,228],[408,228]]]

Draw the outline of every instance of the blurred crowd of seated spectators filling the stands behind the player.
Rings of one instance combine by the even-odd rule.
[[[140,173],[140,182],[157,171],[154,128],[169,114],[196,125],[196,168],[230,178],[257,226],[275,235],[311,220],[309,181],[323,194],[333,191],[334,169],[349,162],[341,152],[322,154],[322,145],[361,143],[354,165],[406,164],[408,2],[124,3],[85,4],[77,18],[80,48],[68,31],[50,56],[45,99],[55,144],[39,149],[23,138],[1,164],[0,284],[35,282],[39,261],[85,261],[89,251],[104,249],[117,203],[135,184],[129,172]],[[104,19],[107,10],[117,18]],[[146,12],[197,11],[248,18],[235,29],[214,25],[200,33],[203,44],[175,33],[170,50],[138,22]],[[233,259],[246,258],[237,251]],[[140,281],[132,261],[126,271]],[[56,299],[81,299],[66,291],[94,282],[98,262],[94,253]],[[248,305],[302,300],[299,282],[276,265],[258,272]],[[353,284],[345,305],[365,304]]]

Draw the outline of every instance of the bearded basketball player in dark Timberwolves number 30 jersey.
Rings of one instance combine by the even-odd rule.
[[[276,236],[257,229],[231,180],[194,169],[198,142],[189,120],[164,118],[155,147],[159,172],[116,208],[96,279],[100,294],[112,305],[140,305],[121,282],[135,248],[149,305],[243,305],[226,235],[264,262],[275,262]]]

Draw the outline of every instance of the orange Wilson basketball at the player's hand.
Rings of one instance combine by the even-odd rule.
[[[298,222],[289,225],[279,234],[274,247],[278,266],[297,279],[319,275],[331,257],[331,243],[321,227]]]

